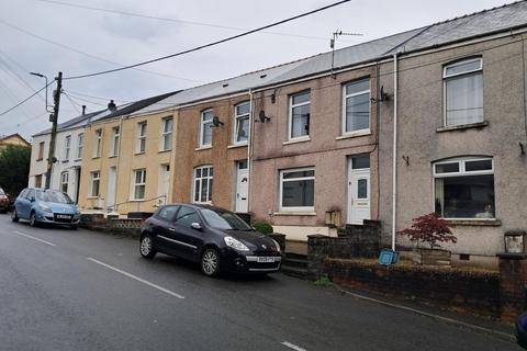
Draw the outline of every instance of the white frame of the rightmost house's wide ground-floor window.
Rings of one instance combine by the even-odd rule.
[[[490,170],[480,170],[480,171],[467,171],[467,162],[471,161],[491,161]],[[446,172],[437,173],[437,165],[448,165],[448,163],[459,163],[459,170],[457,172]],[[450,158],[431,163],[431,208],[433,212],[436,211],[436,179],[442,178],[453,178],[453,177],[471,177],[471,176],[494,176],[494,158],[493,157],[457,157]],[[495,185],[495,183],[494,183]],[[494,186],[495,188],[495,186]],[[494,189],[495,191],[495,189]],[[495,192],[494,192],[495,195]],[[442,214],[439,214],[440,218],[446,220],[496,220],[496,202],[494,201],[494,217],[493,218],[476,218],[476,217],[442,217]]]

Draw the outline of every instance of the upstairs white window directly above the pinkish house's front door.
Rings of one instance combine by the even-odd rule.
[[[343,87],[343,135],[370,131],[370,79]]]

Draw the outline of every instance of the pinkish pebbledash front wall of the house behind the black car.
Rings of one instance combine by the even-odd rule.
[[[346,83],[369,82],[369,127],[357,133],[343,133]],[[368,83],[366,83],[368,86]],[[309,135],[290,138],[292,97],[310,95]],[[307,240],[307,235],[336,236],[326,225],[326,212],[338,212],[340,223],[349,223],[348,162],[352,157],[370,160],[369,210],[367,219],[378,217],[377,66],[327,75],[299,83],[270,88],[255,93],[255,113],[264,111],[270,120],[254,124],[251,155],[250,212],[255,220],[268,220],[288,240]],[[314,170],[313,208],[290,210],[281,206],[281,171]]]

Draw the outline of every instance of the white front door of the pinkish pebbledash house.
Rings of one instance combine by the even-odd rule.
[[[362,224],[370,219],[370,169],[348,168],[348,216],[347,223]]]

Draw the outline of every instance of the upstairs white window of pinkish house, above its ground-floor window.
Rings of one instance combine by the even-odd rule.
[[[289,132],[290,140],[310,137],[311,92],[304,91],[289,97]]]

